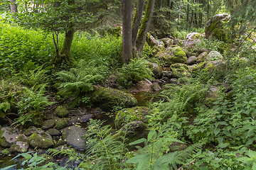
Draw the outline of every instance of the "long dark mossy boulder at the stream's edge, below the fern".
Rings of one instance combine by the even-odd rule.
[[[115,106],[129,108],[137,105],[137,100],[132,94],[102,86],[94,86],[91,96],[92,103],[95,107],[102,108],[102,111],[111,111]]]

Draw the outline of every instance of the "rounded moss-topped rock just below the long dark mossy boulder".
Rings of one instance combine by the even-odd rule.
[[[137,106],[134,108],[124,108],[119,111],[114,120],[117,128],[121,128],[122,125],[132,122],[134,120],[141,120],[144,123],[149,123],[146,115],[151,115],[152,111],[149,108]]]

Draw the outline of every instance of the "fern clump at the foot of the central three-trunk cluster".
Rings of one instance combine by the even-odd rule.
[[[127,88],[143,79],[152,79],[153,73],[149,69],[148,61],[143,58],[134,59],[129,64],[124,64],[120,70],[117,81]]]

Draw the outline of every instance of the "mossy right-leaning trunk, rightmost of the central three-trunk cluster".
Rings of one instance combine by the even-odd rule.
[[[149,0],[148,4],[146,4],[146,11],[144,18],[142,20],[142,25],[139,29],[139,34],[137,37],[137,49],[139,50],[139,55],[142,55],[144,43],[146,40],[146,35],[149,32],[149,26],[151,23],[151,19],[154,13],[154,4],[155,0]]]

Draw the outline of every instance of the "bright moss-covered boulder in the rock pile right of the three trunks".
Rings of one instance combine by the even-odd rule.
[[[188,64],[186,53],[177,45],[173,45],[167,48],[167,50],[159,52],[155,57],[158,58],[165,67],[169,67],[171,64],[175,63]]]

